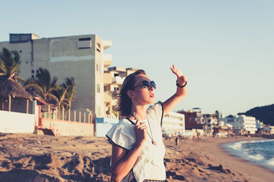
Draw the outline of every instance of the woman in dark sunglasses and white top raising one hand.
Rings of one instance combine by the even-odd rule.
[[[110,170],[112,181],[166,181],[162,118],[186,96],[187,78],[173,67],[177,91],[149,108],[155,101],[155,82],[144,70],[137,70],[123,81],[119,112],[124,118],[108,131],[112,143]]]

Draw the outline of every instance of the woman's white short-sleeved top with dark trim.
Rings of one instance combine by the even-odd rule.
[[[135,178],[136,181],[144,181],[145,179],[166,179],[166,170],[164,167],[164,143],[162,141],[162,116],[163,108],[161,104],[156,104],[147,109],[147,120],[144,120],[147,127],[148,133],[153,140],[157,143],[157,146],[152,144],[152,140],[147,135],[147,141],[142,147],[142,151],[138,156],[136,163],[132,168],[132,172],[129,172],[122,181],[130,181]],[[136,133],[134,131],[134,125],[136,120],[128,120],[123,118],[116,125],[114,125],[110,131],[108,131],[106,137],[111,143],[114,143],[121,148],[129,151],[136,142]],[[151,135],[152,131],[152,135]]]

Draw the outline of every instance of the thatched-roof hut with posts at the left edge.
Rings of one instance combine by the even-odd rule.
[[[14,79],[7,77],[5,75],[0,77],[0,97],[9,99],[9,111],[11,111],[11,98],[18,97],[27,99],[27,112],[29,107],[29,100],[32,101],[32,96],[25,91],[23,86],[21,86]],[[3,106],[2,106],[3,107]]]

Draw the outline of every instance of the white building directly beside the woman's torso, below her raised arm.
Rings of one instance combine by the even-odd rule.
[[[185,123],[184,114],[169,112],[162,118],[163,133],[184,133]]]

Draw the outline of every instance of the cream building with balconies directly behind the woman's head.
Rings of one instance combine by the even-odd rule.
[[[104,113],[108,115],[119,116],[119,112],[116,112],[117,106],[117,94],[121,90],[121,86],[125,77],[134,73],[137,68],[121,68],[121,67],[109,67],[105,64],[103,74],[103,86],[104,86]]]

